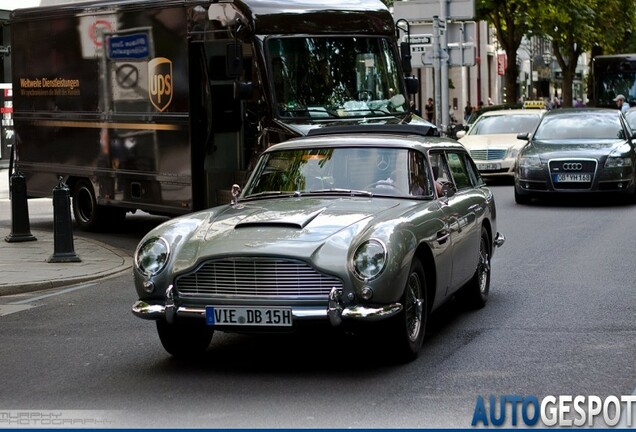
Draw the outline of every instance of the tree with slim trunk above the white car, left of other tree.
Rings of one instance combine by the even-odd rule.
[[[555,0],[558,1],[558,0]],[[518,98],[517,50],[523,36],[530,29],[528,13],[535,3],[532,0],[476,0],[477,19],[486,20],[497,30],[497,40],[506,52],[508,67],[505,72],[506,102]]]

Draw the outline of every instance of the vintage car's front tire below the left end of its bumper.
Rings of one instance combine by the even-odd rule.
[[[166,320],[157,320],[157,333],[161,345],[168,353],[179,358],[190,358],[207,350],[214,330],[203,320],[175,320],[172,324]]]

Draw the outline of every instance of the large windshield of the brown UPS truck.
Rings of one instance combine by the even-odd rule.
[[[267,40],[279,117],[386,116],[408,110],[391,45],[381,37]]]

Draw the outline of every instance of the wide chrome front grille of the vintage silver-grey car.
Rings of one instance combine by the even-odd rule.
[[[326,299],[333,287],[342,286],[340,279],[303,261],[261,257],[206,261],[175,281],[182,295],[239,298]]]

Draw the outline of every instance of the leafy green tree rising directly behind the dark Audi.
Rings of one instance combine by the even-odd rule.
[[[572,106],[572,83],[581,53],[625,46],[635,23],[634,0],[543,0],[529,11],[538,32],[552,39],[563,72],[563,106]]]

